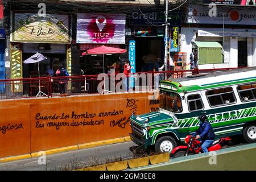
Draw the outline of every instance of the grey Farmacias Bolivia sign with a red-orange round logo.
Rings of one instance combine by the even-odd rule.
[[[209,16],[210,8],[208,6],[189,7],[186,23],[204,23],[204,24],[246,24],[256,25],[255,10],[237,10],[226,7],[217,7],[216,16]]]

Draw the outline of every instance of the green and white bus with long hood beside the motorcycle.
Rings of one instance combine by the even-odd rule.
[[[242,134],[256,142],[255,68],[165,80],[159,89],[159,111],[130,117],[130,137],[139,146],[171,152],[198,129],[201,114],[216,138]]]

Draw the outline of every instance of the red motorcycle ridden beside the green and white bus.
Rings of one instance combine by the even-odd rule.
[[[201,152],[201,142],[191,135],[187,135],[185,138],[186,146],[175,147],[171,152],[171,157],[178,158],[181,156],[199,154]],[[220,150],[225,144],[231,145],[232,141],[230,137],[224,137],[213,142],[208,148],[208,151]]]

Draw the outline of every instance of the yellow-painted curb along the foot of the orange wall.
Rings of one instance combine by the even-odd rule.
[[[68,147],[61,147],[61,148],[54,148],[51,150],[46,150],[46,155],[58,154],[61,152],[68,152],[68,151],[76,151],[85,148],[92,148],[98,146],[106,146],[108,144],[115,144],[115,143],[123,143],[131,141],[130,137],[121,137],[121,138],[114,138],[109,140],[102,140],[98,142],[91,142],[91,143],[84,143],[84,144],[77,144],[75,146],[68,146]],[[0,163],[12,162],[15,160],[22,160],[22,159],[32,159],[32,158],[39,158],[41,154],[39,152],[33,152],[31,154],[24,154],[24,155],[17,155],[17,156],[10,156],[7,158],[0,158]]]

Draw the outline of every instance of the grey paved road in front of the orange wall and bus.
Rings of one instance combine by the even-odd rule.
[[[232,137],[234,146],[246,144],[241,135]],[[133,142],[110,144],[108,146],[87,148],[83,150],[70,151],[61,154],[46,156],[47,164],[39,165],[38,158],[24,159],[16,162],[0,164],[0,171],[23,170],[23,171],[53,171],[75,169],[85,167],[86,164],[99,164],[113,162],[114,159],[128,159],[134,156],[134,148],[138,146]],[[137,150],[138,153],[141,152]],[[142,153],[143,154],[143,153]]]

